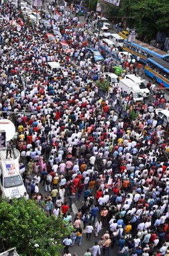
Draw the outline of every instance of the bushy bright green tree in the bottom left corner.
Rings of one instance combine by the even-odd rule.
[[[0,205],[0,240],[5,250],[16,247],[19,255],[59,256],[62,239],[70,234],[62,216],[47,217],[34,201],[13,199]]]

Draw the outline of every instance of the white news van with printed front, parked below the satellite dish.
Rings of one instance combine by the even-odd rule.
[[[13,158],[6,160],[6,150],[0,151],[0,190],[3,199],[21,198],[26,192],[19,166],[20,153],[13,149]]]

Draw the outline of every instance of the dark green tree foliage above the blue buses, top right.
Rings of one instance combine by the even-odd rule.
[[[158,31],[169,33],[168,0],[121,0],[119,14],[130,17],[128,26],[136,28],[139,36],[152,39]]]

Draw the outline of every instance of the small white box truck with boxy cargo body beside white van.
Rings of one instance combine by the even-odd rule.
[[[127,92],[127,94],[133,94],[133,102],[142,102],[144,100],[139,86],[127,78],[119,80],[119,88],[121,88],[123,92]]]

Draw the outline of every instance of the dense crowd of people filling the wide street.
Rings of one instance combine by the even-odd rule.
[[[86,49],[97,40],[78,15],[51,18],[68,52],[62,39],[46,40],[46,30],[36,25],[12,26],[13,19],[20,20],[12,3],[0,8],[1,119],[15,113],[13,141],[27,166],[25,199],[43,199],[47,216],[62,212],[73,224],[74,232],[63,241],[64,256],[71,255],[74,243],[82,244],[84,230],[87,240],[96,238],[84,256],[109,256],[115,247],[124,256],[168,255],[169,144],[155,112],[159,104],[168,109],[164,96],[156,94],[148,105],[134,103],[111,82],[109,93],[100,94],[95,77],[103,79],[103,70]],[[88,20],[96,17],[89,13]],[[50,61],[62,69],[52,69]],[[112,57],[105,65],[111,71]],[[84,203],[73,216],[77,200]]]

